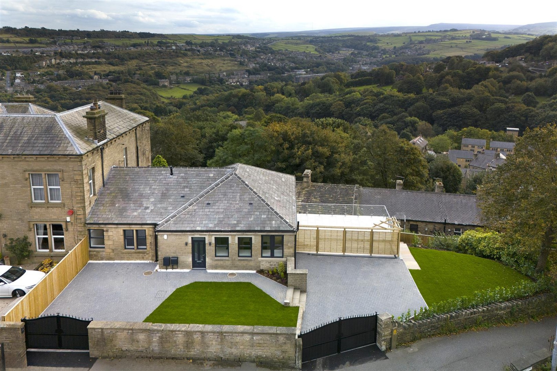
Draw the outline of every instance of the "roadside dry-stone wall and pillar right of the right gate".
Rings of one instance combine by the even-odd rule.
[[[541,294],[526,299],[509,300],[503,303],[457,310],[417,321],[410,320],[403,323],[393,320],[392,331],[385,329],[384,333],[380,333],[378,325],[377,338],[378,341],[381,338],[385,344],[390,344],[392,334],[395,332],[395,342],[397,344],[403,344],[414,342],[422,338],[465,330],[480,324],[496,324],[523,316],[537,316],[555,313],[555,311],[557,311],[555,295]]]

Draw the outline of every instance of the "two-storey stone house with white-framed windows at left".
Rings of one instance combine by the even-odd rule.
[[[123,96],[56,113],[0,103],[0,236],[27,235],[31,262],[60,260],[87,235],[85,219],[113,166],[150,165],[149,118]]]

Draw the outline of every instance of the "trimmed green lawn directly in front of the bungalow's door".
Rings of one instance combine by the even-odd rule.
[[[252,283],[194,282],[174,290],[144,322],[296,327],[297,318],[297,307]]]

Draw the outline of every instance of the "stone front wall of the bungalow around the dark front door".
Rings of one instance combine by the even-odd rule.
[[[278,235],[279,233],[275,233]],[[179,269],[192,268],[192,238],[204,238],[206,249],[207,269],[215,270],[259,270],[275,269],[278,264],[285,263],[286,258],[294,256],[295,234],[284,235],[284,258],[262,258],[261,257],[261,234],[253,233],[157,233],[159,261],[164,256],[178,256]],[[228,256],[215,256],[215,237],[228,238]],[[250,237],[252,240],[252,251],[250,257],[238,256],[238,237]],[[187,243],[187,245],[186,245]],[[211,243],[211,246],[209,246]],[[160,266],[160,264],[159,264]],[[161,266],[162,268],[162,266]]]

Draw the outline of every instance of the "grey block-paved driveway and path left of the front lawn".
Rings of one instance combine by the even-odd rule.
[[[172,292],[195,281],[251,282],[280,303],[286,287],[257,273],[155,271],[157,263],[89,262],[43,314],[68,314],[105,321],[141,322]]]

